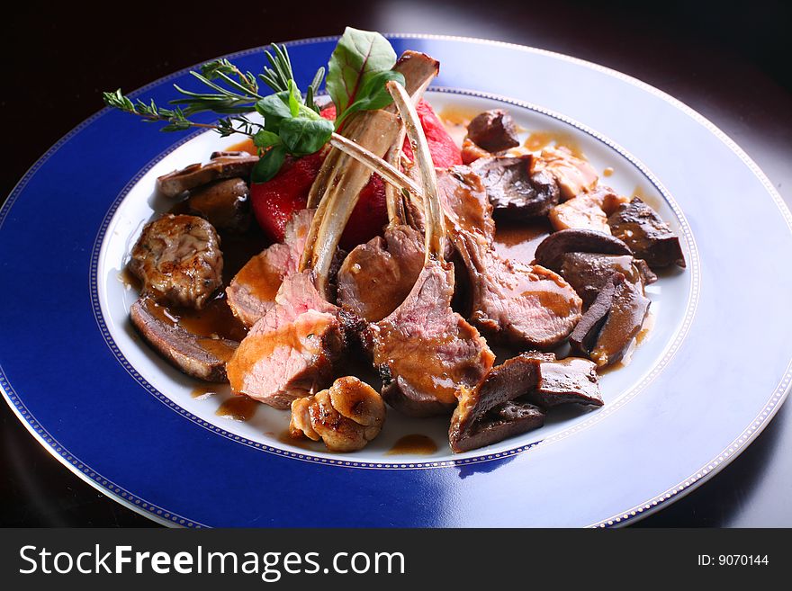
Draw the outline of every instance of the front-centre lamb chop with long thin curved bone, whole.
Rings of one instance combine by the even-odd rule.
[[[446,228],[435,167],[410,97],[398,83],[388,90],[404,121],[421,176],[425,210],[424,265],[407,299],[371,325],[374,364],[383,398],[410,416],[450,413],[460,387],[474,388],[495,356],[479,332],[451,309],[454,270],[446,263]]]

